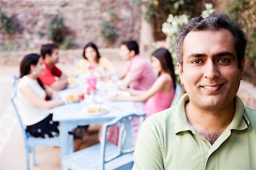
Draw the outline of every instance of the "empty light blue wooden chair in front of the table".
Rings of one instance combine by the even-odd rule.
[[[131,140],[131,121],[139,117],[139,126],[144,121],[145,114],[131,114],[117,117],[102,127],[101,143],[66,155],[63,158],[64,169],[131,169],[133,167],[133,152]],[[118,146],[107,142],[107,129],[118,125]]]

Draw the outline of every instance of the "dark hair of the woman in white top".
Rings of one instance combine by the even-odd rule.
[[[22,61],[20,62],[19,67],[19,77],[22,78],[24,75],[28,75],[31,72],[31,65],[35,66],[39,61],[40,56],[38,54],[28,54],[25,56]],[[44,84],[41,82],[39,78],[36,79],[38,81],[38,84],[43,88],[43,90],[46,89],[44,87]]]

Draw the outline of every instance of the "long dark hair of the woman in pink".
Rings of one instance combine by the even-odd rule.
[[[172,63],[171,53],[166,48],[160,48],[155,50],[155,52],[153,52],[151,56],[154,56],[159,59],[160,65],[162,66],[163,71],[171,75],[172,82],[174,83],[174,86],[175,86],[176,76],[174,71],[174,65]]]

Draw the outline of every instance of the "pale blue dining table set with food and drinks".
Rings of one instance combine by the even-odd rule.
[[[78,92],[79,88],[67,88],[60,91],[59,95],[61,98],[64,98],[68,94],[78,94]],[[98,103],[98,105],[104,105],[108,108],[108,112],[105,114],[94,115],[85,112],[85,108],[91,105],[90,103],[86,103],[86,98],[78,103],[69,103],[52,109],[53,121],[59,122],[61,162],[65,155],[73,152],[73,138],[70,137],[69,131],[77,128],[77,126],[103,124],[104,122],[111,121],[118,116],[126,116],[132,113],[143,113],[143,103],[131,101],[110,101],[106,95],[96,94],[96,96],[102,97],[102,101]]]

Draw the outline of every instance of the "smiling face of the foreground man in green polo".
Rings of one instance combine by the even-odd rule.
[[[234,36],[227,29],[189,32],[183,43],[183,70],[177,63],[189,102],[200,109],[232,104],[243,65],[238,68]]]

